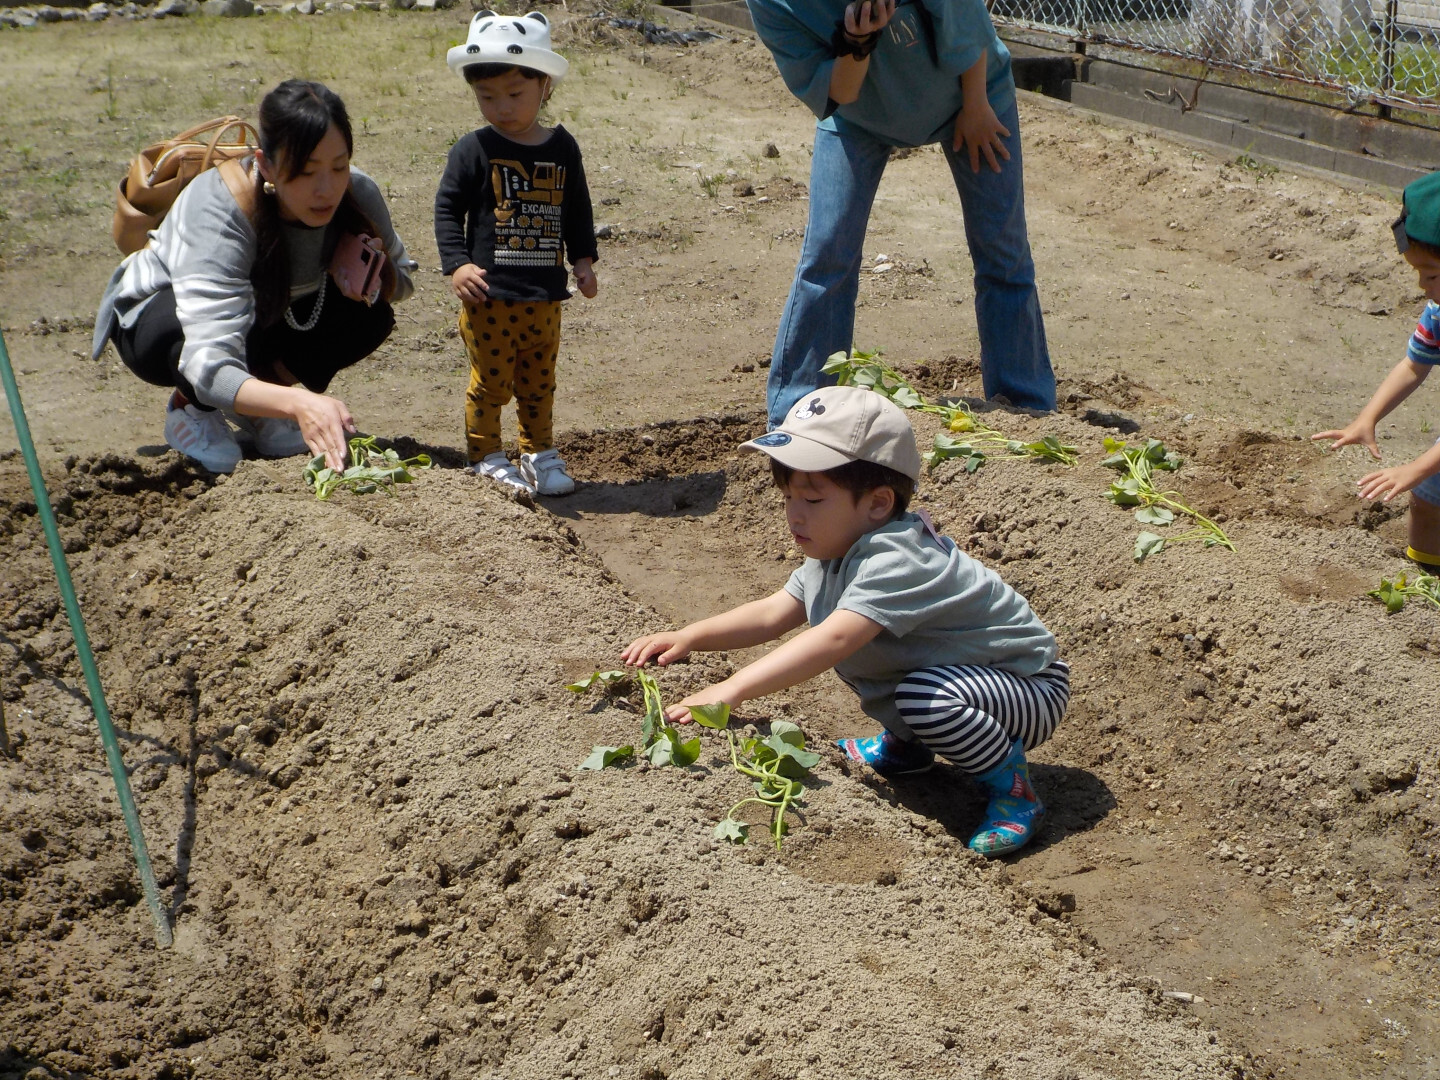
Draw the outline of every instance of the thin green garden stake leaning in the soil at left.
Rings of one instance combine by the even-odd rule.
[[[60,585],[60,598],[65,600],[65,613],[71,621],[71,634],[75,636],[75,652],[81,658],[81,668],[85,671],[85,685],[89,687],[91,708],[95,711],[95,723],[99,724],[99,739],[105,744],[105,757],[109,760],[109,775],[115,779],[115,793],[120,796],[120,812],[125,818],[125,832],[130,834],[130,847],[135,852],[135,868],[140,871],[140,884],[145,890],[145,903],[150,904],[150,914],[156,920],[156,939],[161,946],[170,948],[174,937],[170,932],[170,919],[160,903],[160,888],[156,886],[156,871],[150,867],[150,852],[145,850],[145,834],[140,829],[140,815],[135,812],[135,796],[130,791],[130,778],[125,775],[125,759],[120,753],[120,743],[115,740],[115,727],[109,721],[109,707],[105,704],[105,691],[99,684],[99,671],[95,668],[95,654],[89,647],[89,635],[85,632],[85,621],[81,618],[81,605],[75,599],[75,583],[71,580],[71,567],[65,562],[65,549],[60,547],[60,533],[55,527],[55,511],[50,508],[50,497],[45,490],[45,478],[40,475],[40,462],[35,456],[35,441],[30,438],[30,425],[24,419],[24,408],[20,405],[20,387],[14,383],[14,369],[10,367],[10,353],[4,346],[4,334],[0,333],[0,383],[4,384],[6,400],[10,402],[10,416],[14,418],[14,433],[20,441],[20,454],[24,455],[24,467],[30,474],[30,490],[35,492],[35,505],[40,511],[40,524],[45,526],[45,543],[50,549],[50,562],[55,563],[55,577]]]

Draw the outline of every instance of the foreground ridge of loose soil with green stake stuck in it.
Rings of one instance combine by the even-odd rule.
[[[716,464],[730,514],[770,510]],[[563,520],[459,471],[328,503],[295,474],[107,458],[58,485],[171,952],[6,492],[7,1076],[1227,1071],[1061,900],[834,755],[780,855],[710,840],[744,789],[717,737],[690,770],[576,772],[636,716],[563,683],[655,616]]]

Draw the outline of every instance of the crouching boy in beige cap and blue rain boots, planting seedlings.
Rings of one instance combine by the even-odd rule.
[[[805,563],[772,596],[638,638],[622,660],[672,664],[696,649],[775,641],[808,621],[804,634],[671,706],[670,720],[688,719],[690,706],[736,708],[835,668],[886,729],[841,740],[847,756],[899,776],[940,755],[989,793],[971,848],[1024,847],[1045,812],[1025,750],[1064,714],[1070,668],[1020,593],[906,513],[920,475],[910,420],[877,393],[829,386],[740,449],[770,456]]]

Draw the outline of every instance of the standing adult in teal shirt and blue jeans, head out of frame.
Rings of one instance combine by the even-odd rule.
[[[986,397],[1056,408],[1025,230],[1009,52],[982,0],[747,0],[791,92],[818,117],[809,223],[775,336],[770,426],[854,344],[870,207],[894,147],[939,143],[975,266]]]

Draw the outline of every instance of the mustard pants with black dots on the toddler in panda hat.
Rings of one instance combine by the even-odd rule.
[[[464,304],[459,333],[469,353],[465,451],[471,464],[500,449],[500,410],[511,397],[520,425],[520,452],[539,454],[554,446],[560,301]]]

